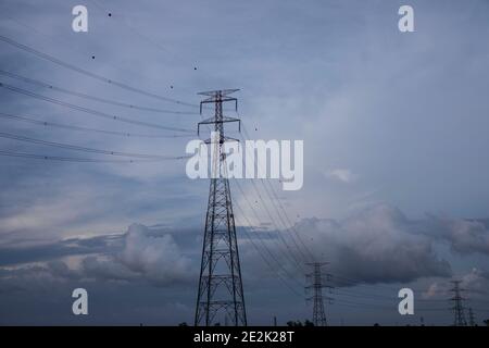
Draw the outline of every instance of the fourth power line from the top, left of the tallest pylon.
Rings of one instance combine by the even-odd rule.
[[[58,127],[58,128],[71,129],[71,130],[101,133],[101,134],[122,136],[122,137],[134,137],[134,138],[189,138],[189,137],[192,137],[191,135],[158,135],[158,134],[151,135],[151,134],[138,134],[138,133],[131,133],[131,132],[116,132],[116,130],[106,130],[106,129],[98,129],[98,128],[88,128],[88,127],[80,127],[80,126],[74,126],[74,125],[62,124],[62,123],[41,121],[39,119],[33,119],[33,117],[25,116],[25,115],[12,115],[9,113],[3,113],[3,112],[0,112],[0,117],[8,119],[8,120],[14,120],[14,121],[18,121],[18,122],[30,123],[30,124],[35,124],[38,126],[45,126],[45,127]]]

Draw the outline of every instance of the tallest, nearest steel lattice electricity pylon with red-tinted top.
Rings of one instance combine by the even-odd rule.
[[[196,326],[215,325],[220,323],[220,320],[234,326],[247,325],[235,216],[224,151],[224,144],[227,140],[236,141],[236,139],[225,137],[224,123],[238,122],[240,124],[240,120],[224,116],[223,102],[234,101],[237,109],[238,100],[228,97],[237,90],[226,89],[199,94],[208,97],[201,101],[200,112],[202,113],[202,104],[213,103],[214,116],[200,122],[198,132],[200,125],[212,124],[214,132],[217,133],[217,139],[204,141],[213,147],[212,173],[214,175],[211,176],[205,217]]]

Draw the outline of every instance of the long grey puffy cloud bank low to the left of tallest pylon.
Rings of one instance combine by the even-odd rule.
[[[48,248],[58,257],[72,251],[79,257],[79,262],[75,265],[68,266],[61,258],[0,268],[0,291],[28,290],[38,285],[49,288],[70,281],[92,279],[139,279],[155,286],[168,286],[185,283],[193,275],[190,272],[190,259],[181,254],[171,234],[152,235],[149,227],[133,224],[124,235],[92,239],[71,239],[70,243],[59,243]],[[106,239],[116,240],[120,247],[110,247]],[[100,249],[101,241],[106,246],[104,250]],[[80,249],[79,244],[91,247]],[[80,254],[82,251],[85,256]]]

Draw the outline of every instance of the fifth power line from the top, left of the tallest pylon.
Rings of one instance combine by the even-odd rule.
[[[133,153],[133,152],[100,150],[100,149],[80,147],[80,146],[76,146],[76,145],[68,145],[68,144],[62,144],[62,142],[54,142],[54,141],[35,139],[35,138],[21,136],[21,135],[2,133],[2,132],[0,132],[0,138],[13,139],[13,140],[32,142],[32,144],[39,144],[39,145],[45,145],[45,146],[50,146],[50,147],[62,148],[62,149],[65,149],[65,150],[84,151],[84,152],[91,152],[91,153],[99,153],[99,154],[109,154],[109,156],[131,157],[131,158],[139,158],[139,159],[181,160],[181,159],[187,158],[187,157],[184,157],[184,156],[181,156],[181,157],[165,157],[165,156],[158,156],[158,154],[145,154],[145,153]]]

